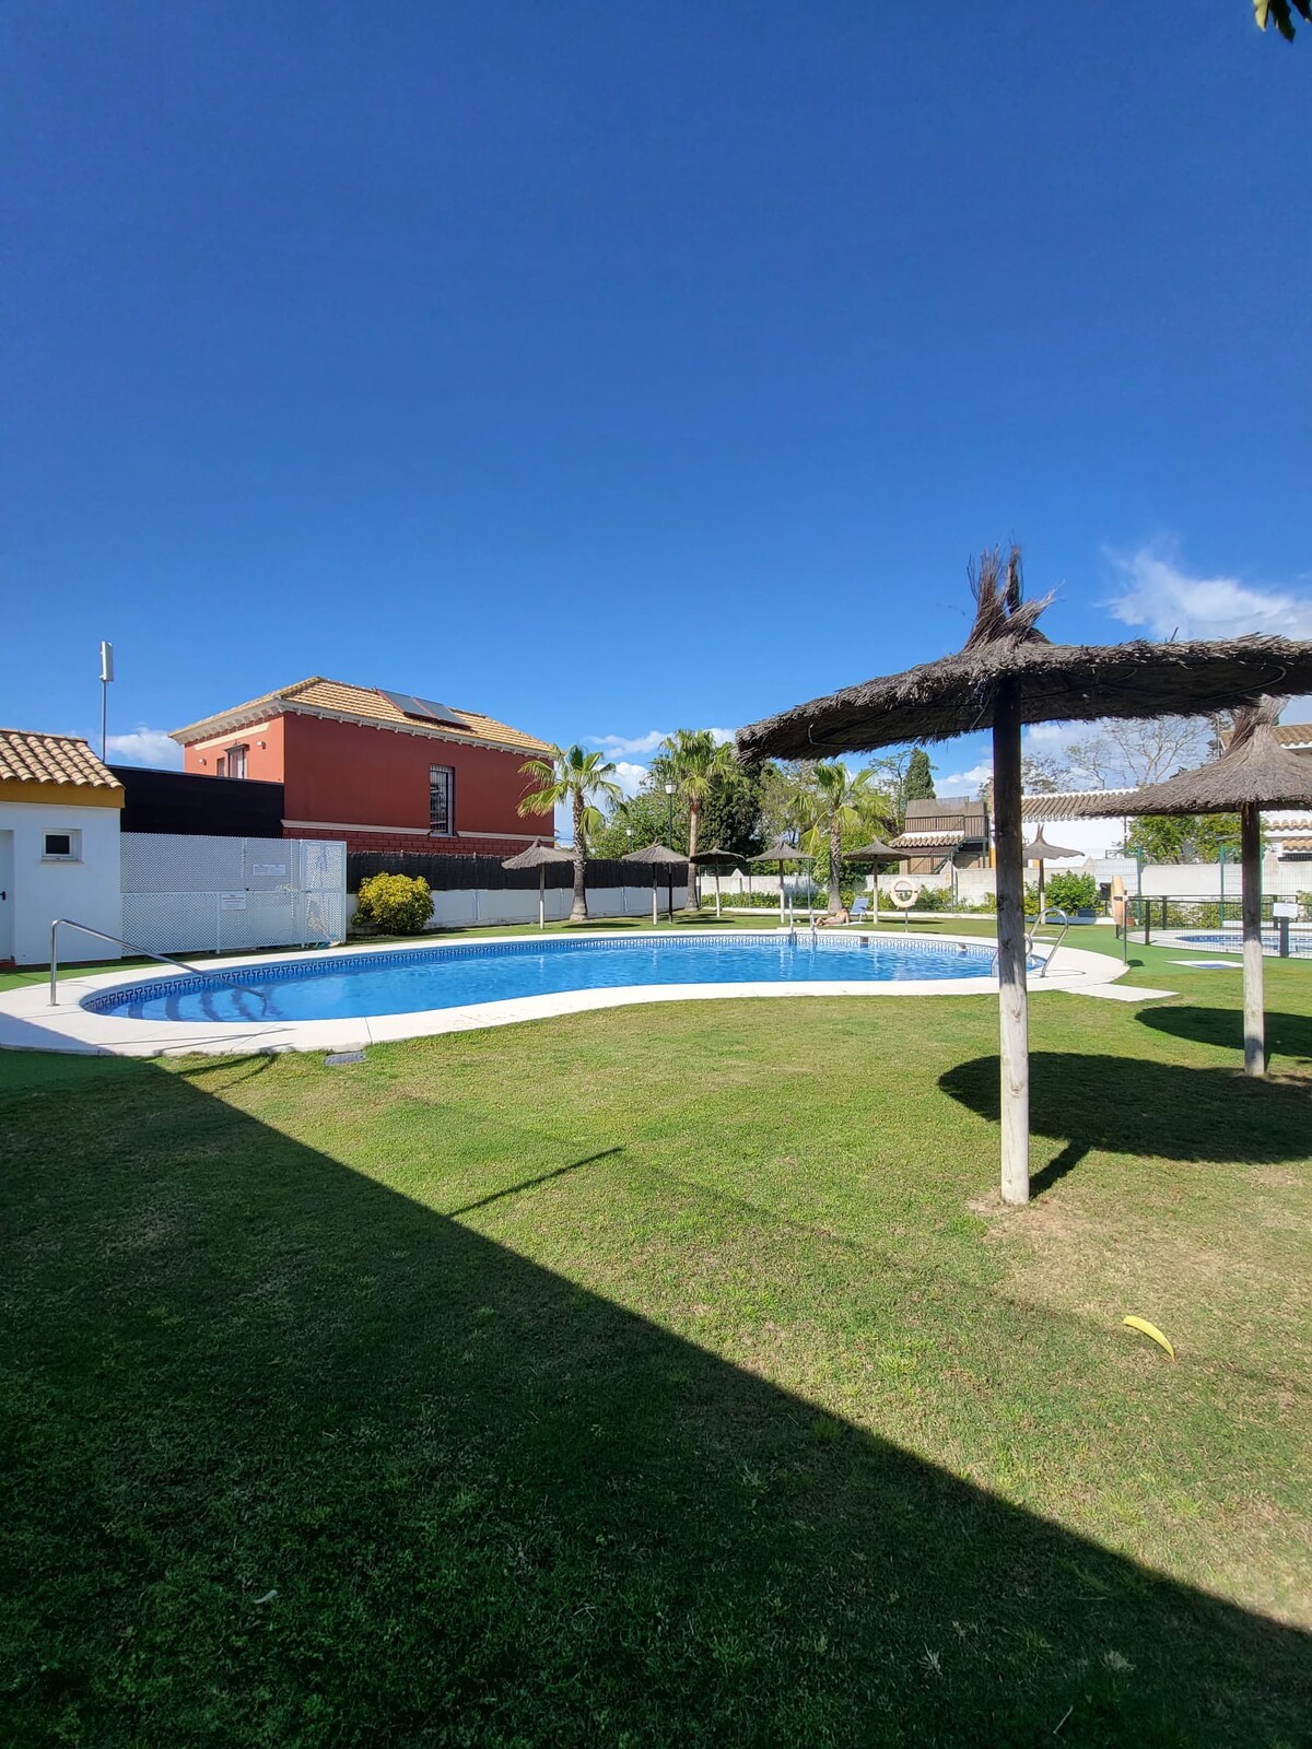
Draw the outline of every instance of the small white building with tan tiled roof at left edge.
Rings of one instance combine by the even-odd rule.
[[[56,916],[121,934],[121,810],[122,785],[84,740],[0,729],[0,964],[49,964]],[[70,958],[119,957],[59,934]]]

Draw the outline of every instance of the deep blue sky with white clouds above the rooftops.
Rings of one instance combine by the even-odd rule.
[[[637,768],[1011,537],[1058,637],[1312,635],[1312,31],[1037,19],[10,0],[0,721],[112,637],[152,763],[325,673]]]

